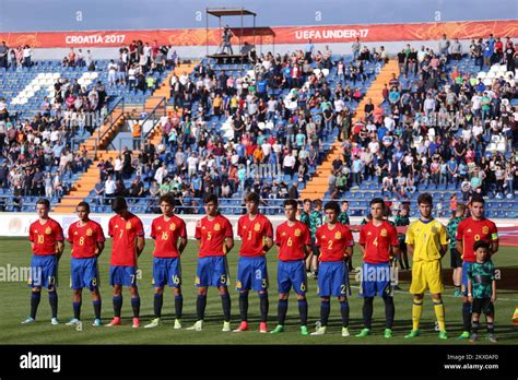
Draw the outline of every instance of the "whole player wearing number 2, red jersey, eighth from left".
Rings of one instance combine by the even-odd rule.
[[[349,336],[349,270],[354,239],[348,226],[338,222],[340,205],[335,201],[323,207],[327,223],[317,229],[316,245],[320,247],[320,270],[318,275],[318,295],[320,298],[320,323],[311,335],[323,335],[331,310],[331,296],[340,302],[342,314],[342,336]]]

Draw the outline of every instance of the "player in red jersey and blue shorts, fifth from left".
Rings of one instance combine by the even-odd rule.
[[[198,221],[195,237],[198,239],[199,260],[196,271],[198,298],[196,310],[198,320],[187,330],[201,331],[205,316],[207,290],[217,287],[223,306],[223,330],[231,331],[231,296],[228,295],[228,263],[226,254],[234,247],[231,222],[217,211],[217,197],[209,194],[204,199],[207,215]]]

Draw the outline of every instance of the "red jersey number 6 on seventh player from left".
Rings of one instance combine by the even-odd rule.
[[[311,233],[307,226],[296,221],[293,226],[287,222],[279,225],[275,230],[275,245],[280,247],[279,260],[296,261],[304,260],[304,246],[311,244]]]

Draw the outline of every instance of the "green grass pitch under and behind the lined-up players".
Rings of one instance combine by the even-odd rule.
[[[2,247],[0,253],[0,268],[28,266],[31,260],[30,244],[21,238],[0,238]],[[111,288],[108,286],[108,265],[111,244],[106,244],[106,249],[99,259],[99,271],[102,281],[103,297],[103,323],[107,323],[113,317]],[[239,322],[238,295],[235,290],[235,275],[237,266],[237,251],[239,241],[228,254],[231,271],[231,297],[232,297],[232,328],[237,328]],[[139,260],[139,268],[142,271],[142,280],[139,283],[141,296],[141,322],[145,324],[153,317],[153,288],[152,280],[152,249],[153,242],[146,240],[145,250]],[[269,328],[276,324],[276,254],[272,249],[269,252],[269,274],[270,274],[270,316]],[[354,265],[361,265],[361,254],[356,247]],[[501,247],[501,251],[495,256],[494,263],[497,268],[518,268],[517,249]],[[72,292],[69,288],[70,273],[70,247],[67,245],[63,257],[59,264],[59,325],[50,324],[50,307],[46,292],[43,293],[42,302],[37,313],[36,323],[22,325],[21,321],[27,316],[30,310],[30,288],[23,282],[0,283],[0,342],[2,344],[468,344],[466,341],[457,341],[461,332],[461,298],[454,298],[454,289],[446,287],[446,325],[449,334],[448,341],[439,341],[434,331],[435,314],[432,300],[426,296],[424,302],[423,317],[421,320],[422,335],[412,341],[405,340],[404,335],[411,330],[411,307],[412,296],[408,293],[410,284],[400,284],[401,290],[396,293],[396,321],[393,326],[393,339],[382,337],[385,314],[384,305],[380,298],[375,299],[373,335],[366,339],[354,336],[342,337],[341,319],[339,305],[335,299],[331,302],[331,316],[329,320],[328,333],[322,336],[303,336],[299,333],[299,319],[296,297],[292,292],[287,312],[285,333],[283,334],[260,334],[259,324],[259,301],[256,294],[250,293],[249,297],[249,325],[250,331],[244,333],[223,333],[222,329],[222,307],[215,288],[210,288],[205,322],[202,332],[186,331],[196,319],[196,287],[195,274],[197,264],[197,248],[193,240],[189,241],[183,254],[183,292],[184,292],[184,318],[183,330],[174,330],[174,296],[170,289],[166,288],[163,307],[163,324],[157,329],[132,329],[131,328],[131,306],[130,296],[127,289],[123,290],[122,326],[115,328],[93,328],[93,307],[90,300],[90,292],[83,292],[82,321],[83,331],[75,331],[72,326],[66,326],[72,317]],[[444,266],[449,266],[449,256],[444,259]],[[9,280],[9,278],[8,278]],[[12,280],[12,278],[11,278]],[[349,297],[351,307],[350,331],[354,335],[362,328],[362,298],[357,295],[358,283],[352,278],[352,295]],[[315,322],[319,319],[320,301],[316,294],[316,281],[308,278],[308,326],[313,330]],[[518,292],[498,290],[499,300],[495,305],[496,310],[496,335],[499,344],[518,344],[518,328],[513,326],[510,317],[516,306],[518,306]],[[485,332],[485,319],[481,332]],[[479,344],[486,344],[481,341]]]

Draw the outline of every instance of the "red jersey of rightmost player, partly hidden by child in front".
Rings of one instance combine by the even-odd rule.
[[[475,241],[484,240],[486,242],[498,240],[498,230],[496,225],[490,219],[474,221],[468,217],[459,223],[457,228],[457,240],[462,241],[462,260],[475,262],[476,258],[473,251]]]

